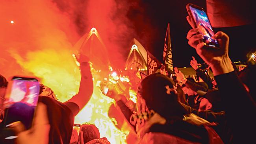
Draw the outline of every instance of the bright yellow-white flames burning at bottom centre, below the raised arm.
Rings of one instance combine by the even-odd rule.
[[[95,124],[100,131],[100,137],[108,138],[111,144],[126,143],[126,136],[129,131],[121,131],[115,127],[117,124],[114,118],[108,117],[110,105],[113,99],[100,93],[99,87],[94,85],[94,92],[87,105],[75,117],[75,123],[83,124],[88,122]]]

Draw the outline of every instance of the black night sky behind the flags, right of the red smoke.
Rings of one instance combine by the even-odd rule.
[[[142,0],[128,12],[128,18],[135,26],[136,38],[161,62],[167,23],[170,23],[173,65],[177,67],[190,66],[192,56],[202,63],[195,50],[187,44],[186,35],[191,29],[186,20],[188,3],[206,9],[205,0]],[[229,35],[233,62],[246,61],[246,54],[256,48],[255,25],[213,29]]]

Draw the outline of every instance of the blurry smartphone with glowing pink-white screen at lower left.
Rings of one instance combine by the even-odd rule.
[[[26,129],[33,123],[39,95],[39,81],[36,78],[14,76],[6,90],[4,102],[4,126],[20,121]]]

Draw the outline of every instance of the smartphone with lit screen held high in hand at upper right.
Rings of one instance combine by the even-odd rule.
[[[199,33],[203,34],[202,41],[204,45],[219,49],[219,42],[211,38],[214,35],[214,31],[204,9],[194,4],[187,4],[186,8],[189,17],[193,19],[194,26],[199,28]]]

